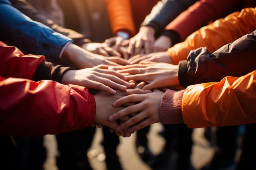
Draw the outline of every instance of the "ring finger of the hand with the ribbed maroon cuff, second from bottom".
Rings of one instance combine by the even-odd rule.
[[[123,124],[117,126],[115,128],[115,130],[117,132],[119,131],[122,131],[126,128],[129,128],[130,126],[136,126],[136,124],[139,122],[139,121],[142,121],[143,119],[146,118],[146,114],[144,114],[143,112],[131,117],[128,121],[124,122]]]

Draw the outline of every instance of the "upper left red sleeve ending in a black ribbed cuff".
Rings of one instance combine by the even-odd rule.
[[[24,55],[14,46],[6,46],[0,41],[0,75],[33,79],[36,67],[45,61],[43,55]]]

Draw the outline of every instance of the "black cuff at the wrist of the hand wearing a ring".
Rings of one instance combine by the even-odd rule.
[[[187,72],[188,72],[188,66],[187,61],[182,60],[179,62],[179,68],[178,68],[178,79],[180,82],[180,85],[187,87],[189,86],[189,82],[187,80]]]

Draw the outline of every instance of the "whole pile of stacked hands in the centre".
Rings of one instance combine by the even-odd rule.
[[[171,64],[166,51],[151,53],[159,48],[152,48],[155,38],[150,34],[138,33],[130,40],[113,37],[82,48],[69,44],[64,50],[64,58],[83,69],[67,71],[61,83],[99,90],[94,95],[95,126],[108,126],[118,136],[130,137],[160,122],[164,91],[179,86],[178,66]]]

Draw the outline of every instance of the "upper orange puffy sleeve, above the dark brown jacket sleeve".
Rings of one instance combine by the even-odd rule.
[[[184,42],[168,49],[173,64],[186,60],[189,51],[207,47],[209,52],[216,51],[225,44],[231,43],[245,34],[256,30],[256,10],[245,8],[224,19],[219,19],[189,35]]]

